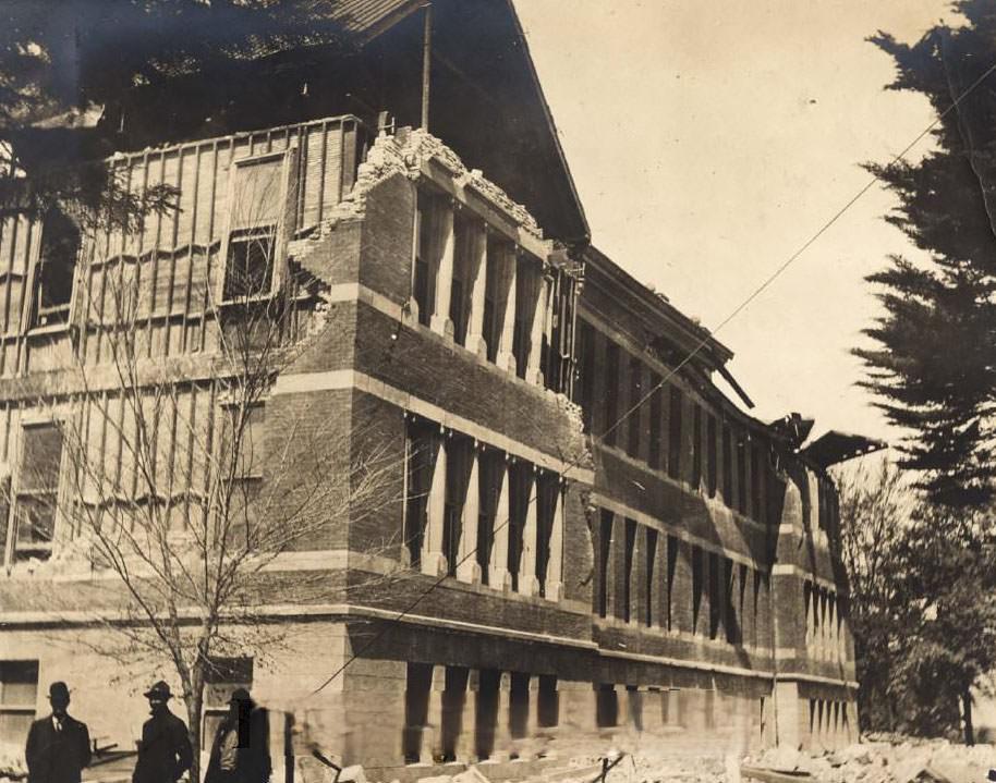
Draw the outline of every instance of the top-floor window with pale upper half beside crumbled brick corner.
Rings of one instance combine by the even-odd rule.
[[[277,233],[289,207],[286,159],[287,154],[279,152],[235,161],[222,287],[226,303],[263,298],[274,293],[280,252]],[[293,200],[291,198],[290,203]]]

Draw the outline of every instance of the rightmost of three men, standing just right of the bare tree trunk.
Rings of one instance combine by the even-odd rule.
[[[215,734],[204,783],[267,783],[271,771],[267,711],[236,688]]]

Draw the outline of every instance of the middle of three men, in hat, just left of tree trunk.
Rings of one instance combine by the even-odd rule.
[[[161,680],[145,692],[151,718],[142,726],[132,783],[175,783],[194,759],[186,724],[170,712],[170,686]]]

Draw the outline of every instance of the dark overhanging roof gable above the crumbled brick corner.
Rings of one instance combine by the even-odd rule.
[[[511,0],[338,0],[349,46],[232,62],[135,87],[102,132],[126,151],[352,113],[428,130],[525,205],[545,234],[590,238]],[[428,30],[428,35],[426,35]],[[429,58],[426,60],[426,51]],[[426,69],[426,62],[428,68]]]

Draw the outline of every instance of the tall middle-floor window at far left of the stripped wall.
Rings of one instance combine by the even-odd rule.
[[[51,555],[61,460],[62,432],[56,424],[24,428],[14,497],[14,560]]]

